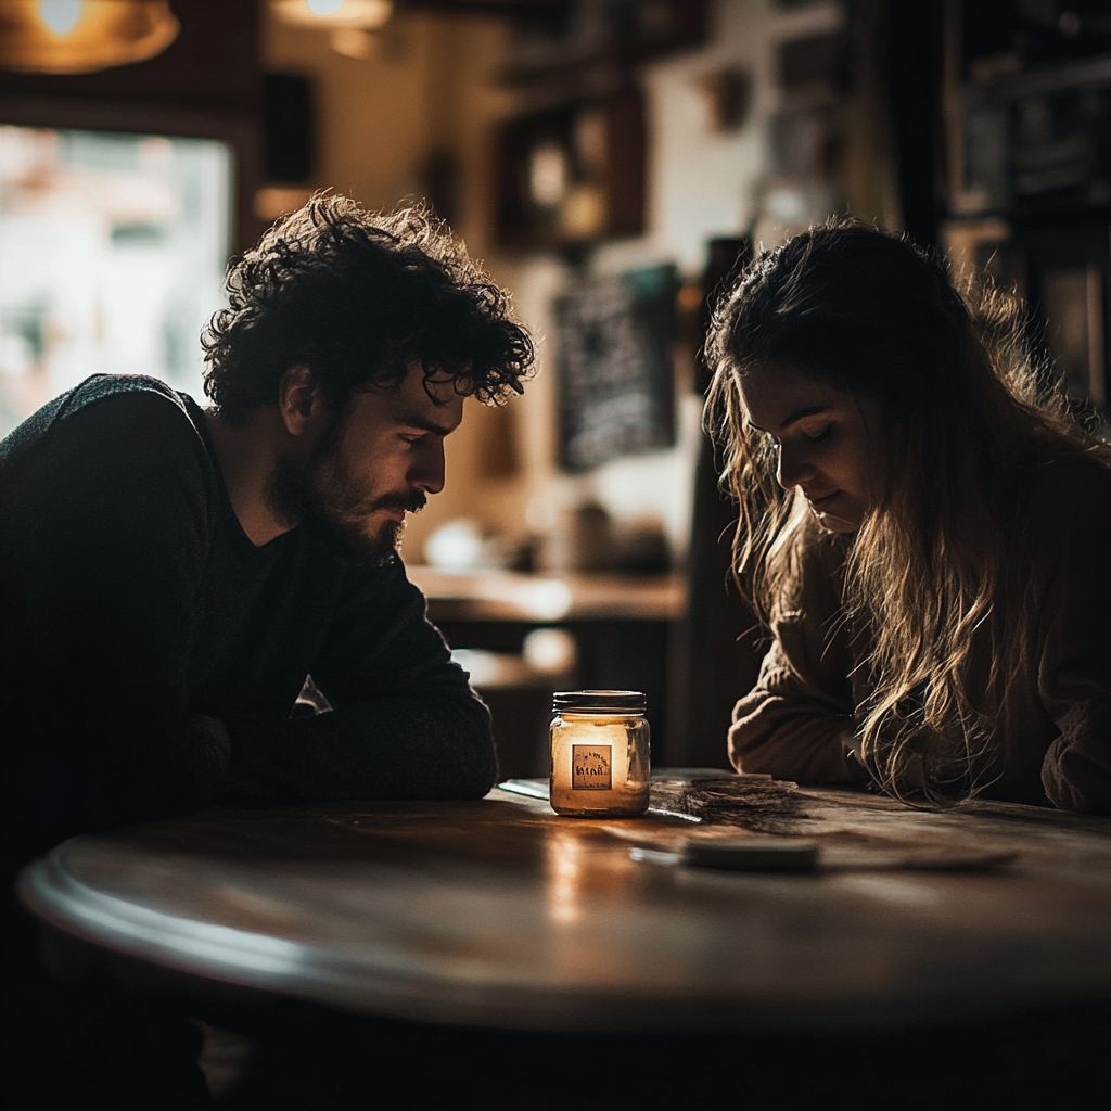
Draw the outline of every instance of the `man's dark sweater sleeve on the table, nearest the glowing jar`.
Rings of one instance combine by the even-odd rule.
[[[490,713],[399,559],[349,575],[312,678],[330,712],[228,723],[237,790],[323,801],[481,798],[493,787]]]

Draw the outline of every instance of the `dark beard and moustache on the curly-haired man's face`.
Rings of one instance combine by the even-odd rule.
[[[307,462],[279,459],[267,486],[267,502],[278,519],[300,527],[342,559],[379,565],[397,554],[404,521],[387,519],[373,533],[367,520],[380,509],[423,509],[423,491],[388,493],[379,498],[351,478],[340,451],[342,423],[323,433]]]

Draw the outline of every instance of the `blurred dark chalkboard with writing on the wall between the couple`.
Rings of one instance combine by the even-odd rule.
[[[560,464],[584,471],[675,442],[673,266],[557,298]]]

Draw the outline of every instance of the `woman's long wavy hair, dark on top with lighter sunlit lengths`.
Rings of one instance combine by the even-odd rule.
[[[975,794],[999,773],[994,717],[1030,650],[1024,491],[1054,458],[1111,454],[1032,353],[1020,302],[987,279],[959,291],[942,259],[834,218],[747,268],[719,300],[707,359],[707,421],[740,508],[734,572],[765,625],[819,530],[748,423],[745,372],[785,364],[879,402],[879,489],[844,571],[844,620],[868,645],[861,753],[904,801]]]

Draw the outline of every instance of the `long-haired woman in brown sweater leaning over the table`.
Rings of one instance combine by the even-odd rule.
[[[742,274],[707,352],[772,637],[735,767],[1111,813],[1111,449],[1017,302],[835,219]]]

